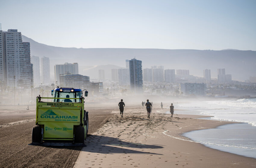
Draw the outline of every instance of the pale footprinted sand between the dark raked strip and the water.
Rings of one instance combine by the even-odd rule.
[[[181,136],[184,132],[230,122],[177,114],[170,118],[160,108],[153,108],[151,119],[147,118],[145,108],[125,107],[123,118],[118,109],[112,113],[115,115],[87,139],[75,168],[256,167],[254,158],[210,149]]]

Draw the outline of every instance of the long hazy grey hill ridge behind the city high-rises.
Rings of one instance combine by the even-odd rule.
[[[232,79],[246,80],[256,76],[256,51],[251,50],[64,48],[41,44],[23,35],[22,39],[30,42],[31,55],[50,58],[51,75],[55,64],[78,62],[79,73],[89,76],[85,70],[88,66],[125,67],[126,59],[136,57],[142,60],[142,68],[163,65],[164,69],[188,69],[195,76],[203,76],[204,69],[211,69],[211,76],[215,78],[218,68],[226,68],[226,74],[232,74]]]

